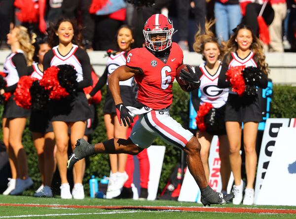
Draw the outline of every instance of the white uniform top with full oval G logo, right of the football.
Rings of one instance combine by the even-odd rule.
[[[204,63],[200,64],[199,68],[202,72],[199,86],[199,90],[201,92],[200,103],[208,102],[212,103],[215,108],[222,107],[227,101],[229,91],[228,88],[218,88],[218,78],[222,65],[219,66],[214,75],[211,75],[207,71]]]

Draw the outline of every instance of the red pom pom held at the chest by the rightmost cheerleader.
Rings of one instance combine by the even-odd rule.
[[[232,91],[236,92],[239,96],[242,96],[245,92],[245,79],[242,71],[245,69],[245,65],[230,67],[227,72],[227,80],[230,82]]]

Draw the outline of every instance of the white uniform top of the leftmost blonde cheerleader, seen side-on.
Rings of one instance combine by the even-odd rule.
[[[14,55],[17,53],[24,54],[22,50],[18,49],[16,52],[11,53],[9,56],[7,56],[5,62],[3,63],[3,72],[7,74],[7,76],[5,77],[7,87],[16,84],[20,79],[16,67],[12,63],[12,57],[14,57]]]

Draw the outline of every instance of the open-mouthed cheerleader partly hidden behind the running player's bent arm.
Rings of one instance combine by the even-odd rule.
[[[107,129],[107,137],[108,139],[126,139],[126,131],[128,126],[119,125],[116,116],[115,104],[111,92],[108,88],[107,77],[117,67],[125,65],[126,63],[126,54],[131,49],[131,46],[134,43],[134,37],[131,28],[126,25],[121,26],[116,34],[116,42],[118,52],[110,53],[110,57],[107,60],[107,67],[104,71],[104,74],[102,75],[94,89],[91,91],[91,93],[86,96],[87,98],[91,98],[91,96],[93,96],[94,94],[96,94],[96,92],[101,90],[102,87],[107,83],[107,94],[105,96],[105,104],[103,109],[104,122]],[[127,106],[132,106],[135,101],[135,94],[133,94],[132,92],[132,82],[133,78],[119,82],[121,98],[123,100],[123,103]],[[112,173],[109,180],[108,191],[113,191],[122,188],[123,184],[128,179],[128,175],[125,172],[127,155],[118,154],[109,156]]]

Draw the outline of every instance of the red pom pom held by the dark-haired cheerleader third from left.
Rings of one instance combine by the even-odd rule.
[[[45,88],[45,90],[50,91],[49,98],[60,100],[61,98],[69,96],[69,93],[63,88],[58,80],[59,68],[56,66],[51,66],[44,71],[43,77],[40,80],[40,85]]]

